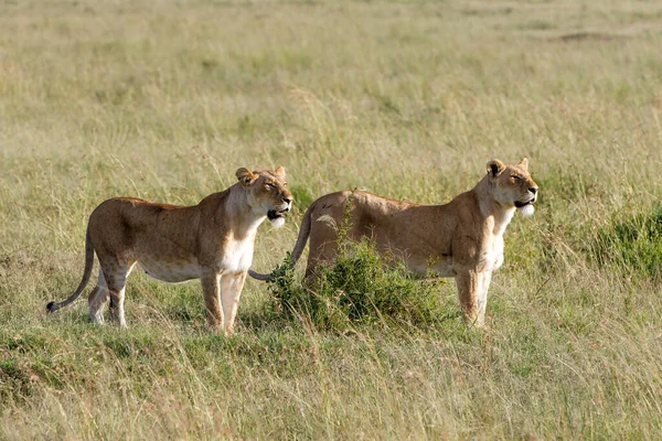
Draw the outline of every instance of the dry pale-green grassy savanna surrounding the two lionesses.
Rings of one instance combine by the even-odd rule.
[[[662,3],[0,0],[0,439],[662,438]],[[87,216],[195,204],[284,165],[286,227],[363,187],[445,203],[528,158],[488,329],[329,332],[248,281],[232,338],[199,283],[87,302]],[[342,331],[342,330],[341,330]]]

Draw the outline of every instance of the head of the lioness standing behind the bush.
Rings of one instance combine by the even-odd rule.
[[[505,207],[516,207],[524,216],[533,214],[538,186],[528,173],[526,158],[519,164],[504,164],[493,159],[488,162],[488,176],[496,202]]]

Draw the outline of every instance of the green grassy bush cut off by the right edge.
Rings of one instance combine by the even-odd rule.
[[[662,278],[662,207],[600,228],[594,256],[600,265],[616,263],[627,273]]]

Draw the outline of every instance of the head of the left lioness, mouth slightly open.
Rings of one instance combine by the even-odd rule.
[[[281,227],[293,200],[292,194],[287,190],[285,169],[279,166],[275,172],[266,170],[252,172],[241,168],[236,176],[248,194],[248,205],[254,211],[266,214],[271,225]]]

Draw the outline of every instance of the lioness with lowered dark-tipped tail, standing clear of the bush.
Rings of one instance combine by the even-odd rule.
[[[125,284],[139,262],[145,272],[166,282],[201,279],[209,326],[222,325],[226,335],[232,334],[257,227],[266,218],[282,226],[292,203],[281,166],[275,172],[242,168],[236,176],[238,183],[194,206],[134,197],[103,202],[89,216],[83,280],[68,299],[49,303],[49,312],[81,295],[96,252],[99,279],[88,299],[94,323],[103,322],[100,309],[110,298],[111,318],[126,326]]]

